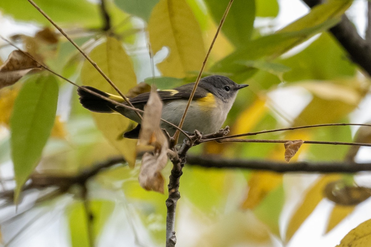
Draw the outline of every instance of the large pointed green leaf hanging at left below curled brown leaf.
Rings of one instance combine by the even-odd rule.
[[[16,181],[14,201],[36,167],[52,130],[58,101],[54,76],[30,77],[20,90],[10,119],[10,145]]]

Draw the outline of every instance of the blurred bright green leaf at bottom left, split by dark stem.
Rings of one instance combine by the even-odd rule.
[[[114,210],[115,204],[107,200],[94,200],[89,202],[90,210],[93,216],[91,222],[93,228],[93,237],[101,232],[108,217]],[[73,203],[67,210],[68,224],[71,234],[73,247],[90,247],[88,239],[88,221],[82,202]]]

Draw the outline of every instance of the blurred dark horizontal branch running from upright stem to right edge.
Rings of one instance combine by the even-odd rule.
[[[269,160],[227,159],[220,156],[187,155],[187,164],[207,168],[242,168],[277,173],[356,173],[371,171],[371,163],[351,162],[277,162]]]

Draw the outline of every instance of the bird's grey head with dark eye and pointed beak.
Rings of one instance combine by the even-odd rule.
[[[249,85],[237,84],[226,76],[213,75],[202,78],[199,86],[227,102],[231,99],[234,101],[237,91]]]

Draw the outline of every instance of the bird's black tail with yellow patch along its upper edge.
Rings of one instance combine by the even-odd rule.
[[[101,96],[108,97],[109,99],[112,99],[114,101],[117,101],[119,103],[123,103],[124,99],[119,96],[115,96],[113,94],[105,93],[101,90],[98,90],[94,87],[89,86],[82,86],[77,89],[77,93],[79,94],[80,103],[82,106],[90,111],[95,112],[102,112],[102,113],[114,113],[117,111],[116,105],[114,103],[111,103],[105,99],[102,99],[88,91],[85,91],[84,89],[89,89]]]

